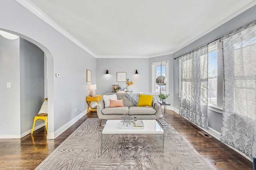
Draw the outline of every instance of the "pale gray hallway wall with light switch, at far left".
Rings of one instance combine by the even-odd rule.
[[[6,88],[11,82],[11,88]],[[20,136],[20,39],[0,35],[0,134]]]

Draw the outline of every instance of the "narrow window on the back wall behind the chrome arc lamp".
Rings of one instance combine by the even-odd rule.
[[[156,85],[156,78],[161,75],[161,62],[151,63],[152,65],[152,93],[159,94],[160,88],[161,93],[168,94],[168,81],[165,86]],[[168,80],[168,61],[162,61],[162,76],[165,76]]]

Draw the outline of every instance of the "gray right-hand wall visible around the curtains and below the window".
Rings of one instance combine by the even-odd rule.
[[[223,35],[230,33],[231,31],[238,29],[239,27],[242,27],[254,20],[256,20],[256,6],[253,6],[252,8],[246,10],[242,14],[236,16],[232,20],[224,23],[220,27],[214,29],[210,33],[204,35],[203,37],[197,39],[190,45],[187,45],[186,47],[180,49],[176,53],[173,54],[173,57],[179,57],[185,53],[188,53],[189,51],[192,51],[193,49],[196,49],[206,43],[209,43],[215,39],[218,39],[219,37],[222,37]],[[180,100],[178,98],[178,90],[179,90],[179,66],[178,66],[178,59],[174,60],[174,107],[179,109],[180,108]],[[220,132],[220,127],[222,125],[222,114],[216,113],[214,111],[208,110],[208,124],[209,127],[212,129]]]

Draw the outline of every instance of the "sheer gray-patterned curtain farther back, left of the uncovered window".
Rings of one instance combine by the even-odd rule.
[[[208,45],[182,56],[179,114],[208,129],[207,122]]]

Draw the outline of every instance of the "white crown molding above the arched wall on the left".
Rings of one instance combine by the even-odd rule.
[[[32,2],[29,0],[16,0],[18,3],[20,3],[22,6],[27,8],[30,12],[35,14],[38,18],[46,22],[48,25],[56,29],[56,31],[60,32],[62,35],[67,37],[70,41],[84,49],[87,53],[92,55],[93,57],[97,57],[96,54],[94,54],[90,49],[85,47],[80,41],[78,41],[76,38],[74,38],[70,33],[68,33],[65,29],[63,29],[60,25],[58,25],[54,20],[52,20],[49,16],[47,16],[44,12],[42,12],[39,8],[37,8]]]

